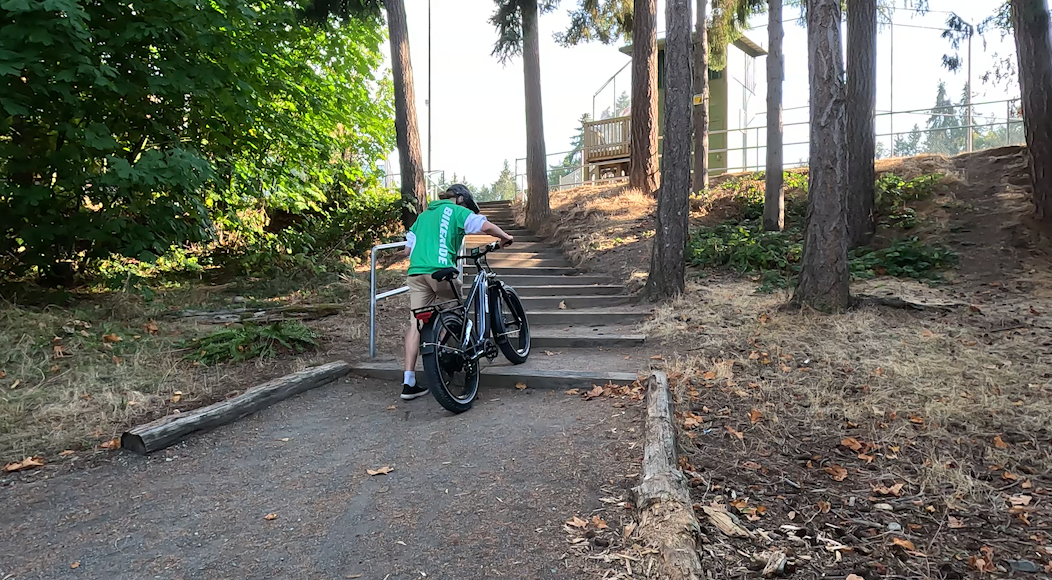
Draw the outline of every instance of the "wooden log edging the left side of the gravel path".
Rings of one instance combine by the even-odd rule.
[[[350,365],[344,361],[337,361],[285,375],[254,386],[226,401],[188,413],[168,415],[124,432],[121,435],[121,447],[140,455],[163,449],[182,441],[196,431],[236,421],[292,395],[330,383],[348,373]]]

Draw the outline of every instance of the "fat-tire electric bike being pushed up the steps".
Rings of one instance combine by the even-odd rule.
[[[493,242],[457,257],[473,261],[477,269],[466,299],[453,283],[460,273],[447,267],[431,278],[448,282],[457,299],[412,311],[420,324],[420,351],[431,394],[452,413],[471,408],[483,357],[492,362],[500,351],[513,364],[529,357],[529,322],[522,300],[486,260],[487,254],[500,248],[501,242]]]

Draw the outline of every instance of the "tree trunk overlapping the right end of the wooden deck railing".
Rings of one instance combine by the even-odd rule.
[[[658,0],[635,2],[632,7],[632,121],[628,184],[652,195],[658,189]]]

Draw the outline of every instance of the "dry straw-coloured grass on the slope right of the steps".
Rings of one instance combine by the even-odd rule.
[[[789,409],[806,409],[805,434],[854,424],[865,431],[859,439],[920,452],[919,485],[946,501],[980,501],[993,488],[989,478],[977,477],[985,465],[976,469],[960,456],[962,438],[996,455],[995,436],[1030,440],[1052,420],[1052,352],[1041,331],[990,333],[993,313],[969,308],[950,316],[786,313],[778,309],[784,297],[756,296],[753,287],[748,281],[693,285],[659,308],[643,331],[677,344],[674,371],[710,373],[730,385],[746,412],[760,405],[776,421]],[[1031,305],[1046,307],[1023,299],[997,316],[1023,316]],[[999,464],[1048,472],[1052,458],[1043,447],[1013,445],[1010,461],[1003,457]]]

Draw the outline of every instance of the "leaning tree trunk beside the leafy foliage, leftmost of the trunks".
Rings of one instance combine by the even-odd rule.
[[[387,8],[391,72],[394,77],[394,137],[402,174],[402,225],[408,229],[427,203],[424,159],[420,154],[420,132],[417,129],[417,97],[412,91],[405,3],[403,0],[384,0],[384,6]]]

